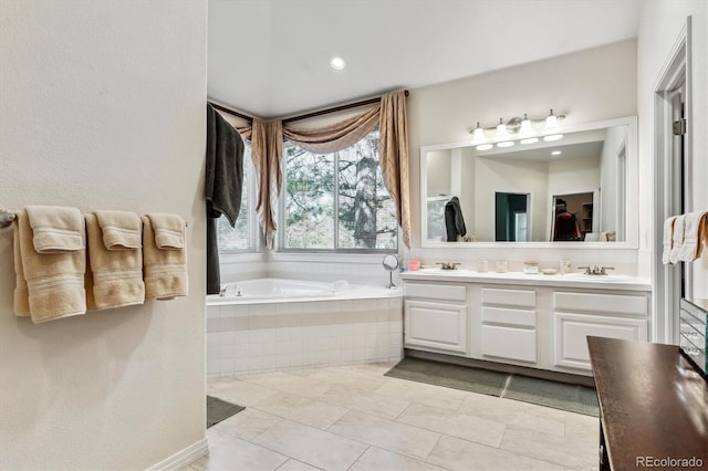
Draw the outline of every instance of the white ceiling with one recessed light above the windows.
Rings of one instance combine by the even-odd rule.
[[[292,116],[635,38],[641,3],[209,0],[207,94]]]

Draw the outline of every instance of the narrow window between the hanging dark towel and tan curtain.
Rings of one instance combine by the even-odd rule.
[[[222,216],[217,219],[219,233],[219,252],[254,252],[256,251],[256,211],[254,211],[254,171],[251,163],[251,145],[243,143],[243,188],[241,190],[241,209],[236,227]]]

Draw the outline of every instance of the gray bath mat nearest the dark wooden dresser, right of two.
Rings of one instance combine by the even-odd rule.
[[[587,386],[512,375],[502,397],[586,416],[600,416],[597,394]]]

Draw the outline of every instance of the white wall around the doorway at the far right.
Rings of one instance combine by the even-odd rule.
[[[638,38],[638,113],[639,136],[639,270],[648,275],[655,257],[660,254],[660,240],[654,228],[663,221],[654,219],[654,95],[659,74],[677,42],[686,18],[693,17],[691,76],[693,98],[688,116],[691,135],[693,168],[689,175],[693,210],[708,210],[708,2],[705,0],[654,0],[644,2]],[[708,254],[693,263],[694,294],[708,297]]]

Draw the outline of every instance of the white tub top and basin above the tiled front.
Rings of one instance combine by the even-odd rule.
[[[225,293],[209,294],[207,305],[289,303],[320,300],[361,300],[376,297],[398,297],[400,289],[348,284],[345,280],[332,283],[264,278],[227,283]]]

